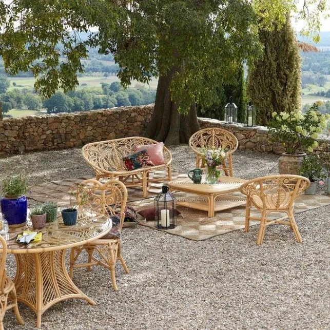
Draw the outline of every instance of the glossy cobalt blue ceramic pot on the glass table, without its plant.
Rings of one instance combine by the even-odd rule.
[[[25,196],[18,198],[3,197],[0,201],[3,218],[9,226],[20,226],[26,222],[28,214],[28,200]]]

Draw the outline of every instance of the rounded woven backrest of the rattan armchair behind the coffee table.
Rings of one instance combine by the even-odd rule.
[[[202,149],[225,148],[228,154],[238,147],[238,141],[234,134],[221,128],[204,128],[191,135],[189,139],[190,149],[201,154]]]

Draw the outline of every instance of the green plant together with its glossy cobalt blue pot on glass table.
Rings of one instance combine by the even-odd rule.
[[[10,227],[23,226],[26,223],[28,202],[25,196],[27,181],[22,176],[12,176],[2,182],[1,211]]]

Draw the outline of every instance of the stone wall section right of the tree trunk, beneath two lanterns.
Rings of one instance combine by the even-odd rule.
[[[216,119],[199,118],[201,128],[219,127],[233,133],[239,144],[239,149],[251,149],[255,151],[269,151],[280,154],[284,152],[284,147],[278,142],[270,139],[267,127],[244,127],[243,124],[225,124]],[[318,140],[320,146],[316,151],[330,151],[330,140],[326,137]]]

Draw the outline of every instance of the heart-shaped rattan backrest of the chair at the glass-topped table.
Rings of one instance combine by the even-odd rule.
[[[89,179],[81,183],[81,197],[84,205],[92,208],[94,211],[114,215],[115,213],[124,213],[127,202],[127,189],[125,185],[118,180],[108,180],[104,183]],[[122,220],[124,217],[121,217]],[[121,226],[123,224],[121,223]]]

